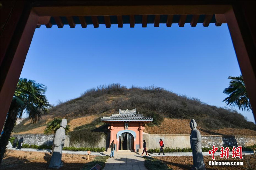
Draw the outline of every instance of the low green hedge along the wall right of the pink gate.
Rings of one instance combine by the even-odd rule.
[[[252,146],[242,146],[243,147],[243,151],[251,151],[253,150],[253,148],[256,148],[256,145],[252,145]],[[220,147],[218,147],[219,150],[217,152],[220,151]],[[208,152],[209,150],[211,150],[212,148],[202,148],[202,152]],[[229,147],[229,150],[232,151],[233,147]],[[160,152],[160,148],[155,148],[155,149],[148,149],[148,152],[153,153],[153,152]],[[191,148],[169,148],[166,147],[164,148],[164,152],[192,152]]]

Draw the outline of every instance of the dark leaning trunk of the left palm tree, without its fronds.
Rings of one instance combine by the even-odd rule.
[[[16,122],[16,116],[10,116],[7,114],[7,118],[5,120],[3,134],[0,137],[0,162],[2,162],[3,156],[6,151],[6,146],[10,139],[11,133],[13,131],[14,125]]]

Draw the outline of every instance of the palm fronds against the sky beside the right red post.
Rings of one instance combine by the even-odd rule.
[[[245,111],[251,111],[251,103],[249,101],[249,97],[247,95],[245,84],[243,82],[243,76],[239,77],[231,77],[229,87],[223,90],[224,94],[228,94],[229,96],[224,99],[225,103],[231,107],[237,107],[238,109],[242,109]]]

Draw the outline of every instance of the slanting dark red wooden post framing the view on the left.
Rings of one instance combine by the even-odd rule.
[[[39,18],[30,7],[24,6],[24,8],[26,9],[22,12],[20,22],[18,22],[13,34],[14,39],[11,40],[1,64],[1,130]]]

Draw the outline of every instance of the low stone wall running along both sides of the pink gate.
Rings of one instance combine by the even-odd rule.
[[[24,144],[29,145],[52,145],[53,135],[12,135],[13,137],[24,138]],[[143,134],[143,140],[146,141],[147,149],[159,148],[159,139],[164,141],[165,147],[170,148],[190,148],[190,135],[179,134]],[[92,139],[93,140],[93,139]],[[97,146],[89,144],[77,144],[75,147],[104,147],[109,146],[109,137],[102,137]],[[251,146],[256,144],[256,136],[222,136],[222,135],[202,135],[202,147],[220,146]],[[65,140],[64,146],[69,145],[69,136]]]

